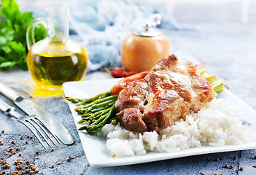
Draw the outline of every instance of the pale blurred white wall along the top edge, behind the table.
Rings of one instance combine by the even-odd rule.
[[[42,9],[49,6],[58,6],[61,4],[69,4],[84,8],[81,4],[117,4],[122,0],[106,0],[101,1],[69,1],[69,0],[17,0],[20,9],[24,12],[27,10],[39,10],[38,14],[42,14]],[[169,18],[175,18],[179,22],[255,22],[255,0],[132,0],[123,1],[127,4],[162,4],[163,10],[166,10]],[[116,7],[113,7],[115,9]],[[75,11],[76,9],[74,9]]]

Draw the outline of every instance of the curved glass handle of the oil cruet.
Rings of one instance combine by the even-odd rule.
[[[35,43],[35,38],[34,38],[34,29],[36,26],[39,24],[42,24],[44,28],[47,28],[47,22],[46,18],[35,18],[34,20],[31,21],[31,23],[28,25],[27,32],[26,32],[26,42],[27,42],[27,47],[28,50],[32,47],[32,45]]]

